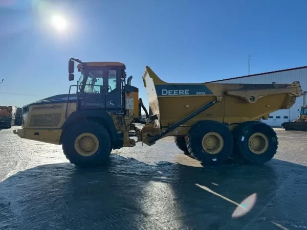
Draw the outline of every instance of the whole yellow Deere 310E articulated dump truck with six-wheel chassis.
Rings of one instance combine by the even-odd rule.
[[[126,79],[123,63],[71,58],[70,81],[75,62],[80,78],[69,94],[24,106],[22,129],[14,133],[62,145],[65,156],[80,167],[102,164],[112,149],[137,142],[151,146],[166,136],[174,136],[183,152],[203,164],[222,164],[232,155],[247,164],[264,164],[276,153],[278,141],[260,118],[289,109],[302,96],[299,82],[175,84],[162,81],[146,66],[148,114],[138,88],[131,85],[132,76]],[[142,128],[136,126],[142,122],[141,108],[146,113]],[[132,132],[137,138],[130,138]]]

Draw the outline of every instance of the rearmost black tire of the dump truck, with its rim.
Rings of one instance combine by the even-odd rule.
[[[262,165],[277,152],[278,139],[274,129],[263,122],[244,122],[233,131],[234,154],[246,164]]]

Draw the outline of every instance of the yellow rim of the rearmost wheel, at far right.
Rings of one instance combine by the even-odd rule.
[[[252,153],[263,154],[269,148],[269,139],[264,133],[256,132],[250,136],[248,147]]]

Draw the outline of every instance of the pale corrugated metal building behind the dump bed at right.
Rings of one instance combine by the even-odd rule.
[[[269,120],[263,122],[280,127],[283,122],[293,121],[299,116],[300,106],[307,105],[307,66],[289,68],[262,74],[253,74],[243,77],[235,77],[211,81],[208,83],[246,83],[246,84],[282,84],[299,81],[304,91],[304,96],[296,99],[295,104],[290,109],[280,109],[270,114]]]

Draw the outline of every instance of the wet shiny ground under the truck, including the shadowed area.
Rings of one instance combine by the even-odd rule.
[[[277,129],[264,166],[203,167],[167,137],[82,170],[0,131],[0,229],[307,229],[307,133]]]

